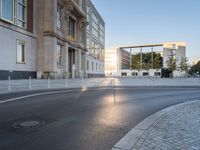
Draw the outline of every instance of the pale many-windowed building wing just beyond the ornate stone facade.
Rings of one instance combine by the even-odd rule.
[[[88,77],[104,76],[105,23],[91,0],[87,3],[87,69]]]

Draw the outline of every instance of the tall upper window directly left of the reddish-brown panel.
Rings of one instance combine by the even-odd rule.
[[[26,1],[17,1],[17,25],[19,27],[26,27]]]

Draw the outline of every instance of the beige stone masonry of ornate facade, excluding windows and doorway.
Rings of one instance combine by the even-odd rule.
[[[36,0],[37,1],[37,70],[38,75],[47,77],[59,77],[71,72],[68,64],[69,47],[75,51],[75,64],[77,71],[85,72],[86,58],[86,28],[85,12],[77,7],[74,1],[66,0]],[[85,1],[85,0],[84,0]],[[57,28],[57,5],[61,7],[61,28]],[[76,21],[76,37],[71,40],[68,35],[69,17]],[[81,29],[82,28],[82,29]],[[83,31],[83,42],[80,40],[80,32]],[[57,66],[57,43],[62,45],[62,66]]]

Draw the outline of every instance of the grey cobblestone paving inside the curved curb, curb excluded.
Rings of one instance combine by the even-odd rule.
[[[143,132],[132,150],[200,150],[200,102],[170,109]]]

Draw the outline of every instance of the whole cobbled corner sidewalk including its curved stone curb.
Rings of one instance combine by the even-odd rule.
[[[175,105],[146,118],[112,150],[200,150],[200,101]]]

